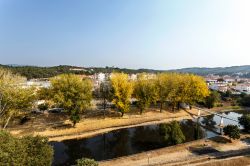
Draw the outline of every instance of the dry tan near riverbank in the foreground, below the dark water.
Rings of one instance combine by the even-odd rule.
[[[248,136],[243,136],[250,139]],[[200,150],[197,150],[200,149]],[[214,152],[211,152],[214,151]],[[179,165],[216,165],[222,160],[230,165],[230,160],[235,162],[235,156],[241,160],[241,164],[250,164],[249,144],[242,140],[233,141],[225,137],[202,139],[184,144],[147,151],[131,156],[120,157],[112,160],[99,162],[100,166],[179,166]],[[218,164],[220,165],[220,164]],[[231,164],[232,165],[232,164]]]

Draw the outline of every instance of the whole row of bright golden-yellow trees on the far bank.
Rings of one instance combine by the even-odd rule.
[[[129,110],[132,91],[141,113],[151,103],[160,103],[160,110],[165,103],[168,103],[174,111],[176,107],[179,110],[181,103],[191,106],[203,101],[209,95],[203,78],[192,74],[161,73],[156,77],[140,74],[132,84],[128,75],[114,73],[111,77],[111,85],[113,103],[122,115]]]

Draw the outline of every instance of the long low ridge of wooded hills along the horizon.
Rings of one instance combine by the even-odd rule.
[[[19,73],[28,79],[31,78],[48,78],[53,77],[58,74],[63,73],[74,73],[74,74],[86,74],[91,75],[95,73],[111,73],[115,72],[124,72],[128,74],[134,73],[161,73],[161,72],[180,72],[180,73],[194,73],[197,75],[230,75],[230,76],[240,76],[250,78],[250,65],[244,66],[231,66],[231,67],[190,67],[183,69],[174,69],[174,70],[154,70],[154,69],[127,69],[127,68],[118,68],[118,67],[79,67],[79,66],[69,66],[69,65],[60,65],[52,67],[39,67],[39,66],[23,66],[23,65],[1,65],[0,67],[7,68],[12,70],[14,73]],[[83,69],[72,70],[73,69]]]

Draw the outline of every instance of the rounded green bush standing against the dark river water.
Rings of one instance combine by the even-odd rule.
[[[160,124],[160,133],[164,135],[164,139],[170,145],[177,145],[185,141],[179,122]]]

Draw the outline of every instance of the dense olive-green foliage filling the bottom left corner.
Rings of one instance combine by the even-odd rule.
[[[0,131],[0,165],[51,165],[53,148],[40,136],[15,138]]]

